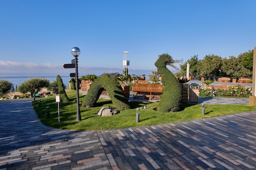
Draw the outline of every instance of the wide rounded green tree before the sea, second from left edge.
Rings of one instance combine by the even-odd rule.
[[[40,91],[41,88],[48,87],[49,84],[49,79],[35,77],[25,80],[18,86],[18,90],[21,93],[30,92],[31,95],[34,95],[36,92]]]

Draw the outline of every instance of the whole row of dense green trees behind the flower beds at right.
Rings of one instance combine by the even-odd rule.
[[[190,75],[195,79],[205,76],[252,77],[253,50],[241,53],[238,57],[229,56],[229,58],[206,55],[204,59],[198,60],[198,56],[194,55],[180,65],[181,70],[175,73],[176,76],[186,76],[187,63],[190,64]]]

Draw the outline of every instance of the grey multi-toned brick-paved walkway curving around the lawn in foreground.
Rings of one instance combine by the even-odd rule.
[[[72,131],[43,125],[29,99],[0,110],[0,170],[256,170],[256,111]]]

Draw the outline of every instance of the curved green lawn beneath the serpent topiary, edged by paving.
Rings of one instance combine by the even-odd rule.
[[[55,102],[55,96],[41,98],[40,107],[38,100],[32,102],[43,124],[69,130],[103,130],[166,124],[256,110],[256,106],[248,105],[205,104],[205,115],[202,115],[201,104],[182,104],[179,112],[161,113],[155,111],[158,103],[130,102],[131,109],[121,110],[120,113],[110,117],[100,117],[97,112],[101,107],[113,106],[113,104],[110,99],[99,99],[95,108],[80,108],[82,120],[76,121],[76,91],[67,91],[67,95],[70,102],[60,103],[60,123],[58,123],[58,104]],[[83,101],[84,97],[80,94],[80,101]],[[144,105],[147,105],[148,109],[140,109],[139,123],[136,123],[136,108]],[[49,119],[46,113],[47,106],[50,110]]]

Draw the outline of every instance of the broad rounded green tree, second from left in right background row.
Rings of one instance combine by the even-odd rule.
[[[198,73],[206,76],[219,76],[222,58],[218,55],[206,55],[198,66]]]

